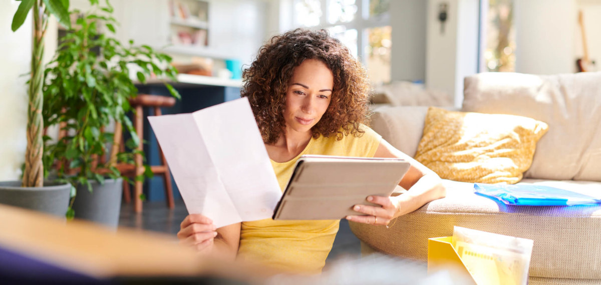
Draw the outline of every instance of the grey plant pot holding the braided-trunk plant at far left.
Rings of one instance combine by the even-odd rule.
[[[65,218],[71,184],[44,181],[43,187],[21,187],[20,181],[0,182],[0,203]]]

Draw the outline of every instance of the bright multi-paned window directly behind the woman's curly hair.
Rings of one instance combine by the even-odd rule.
[[[293,27],[327,29],[364,64],[373,84],[390,81],[389,0],[294,0]]]

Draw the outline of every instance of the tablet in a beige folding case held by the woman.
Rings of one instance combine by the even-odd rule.
[[[301,156],[273,219],[343,219],[369,195],[388,197],[409,170],[396,158]]]

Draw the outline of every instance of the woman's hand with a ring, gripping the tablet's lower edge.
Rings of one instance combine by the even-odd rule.
[[[398,213],[399,203],[396,197],[368,196],[367,201],[382,205],[382,207],[358,204],[353,206],[353,210],[367,216],[346,216],[346,219],[353,222],[362,222],[364,224],[388,226],[388,223],[394,219],[395,215]]]

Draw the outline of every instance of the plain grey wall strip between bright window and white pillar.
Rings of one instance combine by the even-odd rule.
[[[426,14],[426,1],[391,1],[392,81],[426,79]]]

